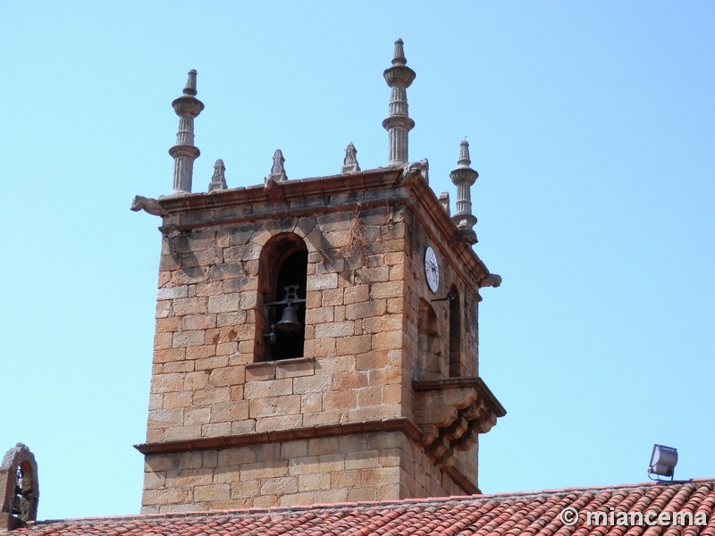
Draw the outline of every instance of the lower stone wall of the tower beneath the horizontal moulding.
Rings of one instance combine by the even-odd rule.
[[[400,431],[149,455],[142,514],[462,495]]]

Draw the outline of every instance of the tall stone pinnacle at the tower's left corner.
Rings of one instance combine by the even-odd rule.
[[[201,155],[194,146],[194,118],[204,109],[204,103],[196,98],[196,93],[196,71],[192,69],[183,95],[172,102],[173,111],[179,116],[176,145],[169,149],[169,155],[173,157],[172,195],[191,193],[194,160]]]

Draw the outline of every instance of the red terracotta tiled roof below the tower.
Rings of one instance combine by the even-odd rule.
[[[565,526],[565,507],[580,511]],[[704,513],[706,526],[588,526],[587,511]],[[422,498],[395,502],[251,508],[190,514],[128,515],[30,523],[18,534],[46,536],[715,536],[715,481]],[[655,517],[655,516],[654,516]],[[702,518],[702,515],[701,515]],[[595,525],[595,523],[592,523]]]

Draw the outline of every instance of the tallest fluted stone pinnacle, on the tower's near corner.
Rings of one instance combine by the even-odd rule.
[[[407,88],[415,80],[416,73],[407,66],[402,39],[395,41],[392,66],[383,72],[387,85],[392,89],[390,112],[383,121],[389,138],[388,165],[399,166],[408,163],[408,133],[415,127],[415,121],[408,116]]]

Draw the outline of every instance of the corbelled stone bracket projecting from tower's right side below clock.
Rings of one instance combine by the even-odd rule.
[[[486,433],[498,417],[507,415],[481,378],[445,378],[413,381],[415,417],[422,439],[419,445],[434,465],[455,464],[456,450],[467,450],[476,435]]]

